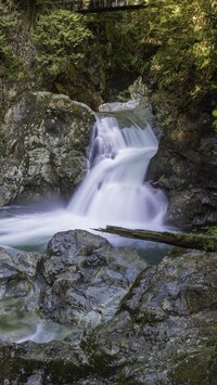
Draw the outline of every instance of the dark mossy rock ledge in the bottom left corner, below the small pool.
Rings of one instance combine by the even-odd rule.
[[[0,348],[0,361],[2,384],[72,384],[72,380],[90,371],[82,349],[63,342],[4,345]]]

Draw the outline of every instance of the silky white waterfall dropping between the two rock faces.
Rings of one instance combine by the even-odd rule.
[[[97,116],[90,146],[90,171],[73,196],[68,209],[101,226],[161,229],[165,198],[144,182],[157,140],[146,124],[120,128],[115,117]]]

